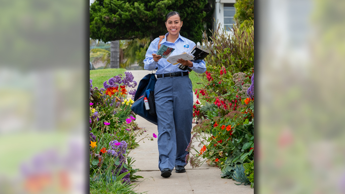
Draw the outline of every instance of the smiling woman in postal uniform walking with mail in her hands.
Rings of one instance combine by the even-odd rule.
[[[168,13],[165,21],[168,33],[165,34],[161,45],[174,48],[172,56],[189,52],[195,46],[193,41],[179,34],[182,24],[179,13]],[[144,68],[153,70],[158,67],[154,90],[158,118],[158,167],[162,171],[162,177],[170,177],[174,167],[176,172],[186,171],[186,148],[191,138],[193,119],[193,91],[188,70],[181,70],[177,65],[155,54],[158,43],[159,38],[156,38],[147,49]],[[197,73],[206,71],[204,61],[194,63],[179,59],[177,62],[187,65]]]

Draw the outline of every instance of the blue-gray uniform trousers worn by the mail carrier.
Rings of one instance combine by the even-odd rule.
[[[191,138],[193,90],[188,76],[158,78],[155,85],[158,117],[158,167],[185,166]]]

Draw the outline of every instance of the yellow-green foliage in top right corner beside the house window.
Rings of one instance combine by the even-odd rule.
[[[254,0],[236,0],[236,13],[234,19],[237,20],[240,28],[254,25]]]

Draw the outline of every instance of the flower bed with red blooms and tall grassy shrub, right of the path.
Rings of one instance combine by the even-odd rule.
[[[186,157],[192,167],[207,162],[221,168],[222,178],[232,178],[251,187],[254,186],[253,37],[253,28],[235,27],[231,37],[223,31],[213,32],[210,42],[206,39],[210,55],[203,75],[205,84],[195,90],[198,100],[193,106],[193,116],[197,125],[192,130],[187,148],[190,153]],[[196,142],[201,150],[193,146]]]

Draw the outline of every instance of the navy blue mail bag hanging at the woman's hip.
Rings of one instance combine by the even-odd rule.
[[[146,94],[146,90],[150,89],[153,94],[155,89],[157,78],[154,73],[147,74],[143,77],[138,85],[136,95],[134,96],[134,103],[131,107],[132,111],[147,121],[157,125],[157,115],[151,115],[148,110],[145,109],[144,97],[149,98]],[[155,107],[152,107],[155,108]],[[150,106],[151,109],[151,106]],[[152,110],[151,110],[152,111]]]

